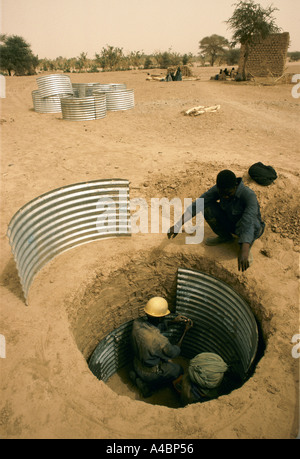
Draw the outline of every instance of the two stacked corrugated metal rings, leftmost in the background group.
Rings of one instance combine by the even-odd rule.
[[[37,78],[38,90],[32,91],[34,110],[38,113],[60,113],[61,98],[73,95],[67,75],[45,75]]]

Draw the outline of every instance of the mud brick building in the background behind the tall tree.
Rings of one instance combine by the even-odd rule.
[[[246,73],[253,76],[281,76],[286,66],[287,50],[290,44],[288,32],[271,34],[265,40],[251,46]],[[243,68],[244,46],[241,47],[239,69]]]

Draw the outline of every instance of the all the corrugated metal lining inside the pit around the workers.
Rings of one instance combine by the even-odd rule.
[[[245,379],[258,344],[257,325],[248,304],[230,286],[205,273],[179,268],[177,281],[176,314],[194,322],[184,338],[181,355],[190,359],[200,352],[218,353],[233,373]],[[107,381],[132,362],[132,323],[112,331],[92,353],[89,368],[98,379]],[[167,336],[176,343],[182,331],[182,326],[172,324]]]

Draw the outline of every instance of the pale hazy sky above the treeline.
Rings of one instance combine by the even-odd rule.
[[[199,52],[199,41],[231,39],[224,21],[238,0],[0,0],[1,33],[22,36],[40,59],[94,58],[107,45],[140,51]],[[257,0],[273,5],[276,24],[300,51],[299,0]]]

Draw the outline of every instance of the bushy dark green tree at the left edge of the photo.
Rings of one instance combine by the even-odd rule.
[[[9,75],[33,75],[39,63],[30,45],[18,35],[1,35],[0,37],[0,69]]]

